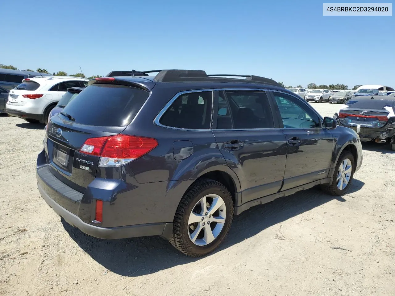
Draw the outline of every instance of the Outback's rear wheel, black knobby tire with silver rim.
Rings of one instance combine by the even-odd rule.
[[[233,199],[220,182],[201,179],[182,197],[169,242],[182,253],[199,257],[222,243],[232,224]]]

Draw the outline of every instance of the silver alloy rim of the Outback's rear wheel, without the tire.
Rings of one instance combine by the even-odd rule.
[[[188,218],[188,235],[195,245],[208,245],[220,234],[226,220],[224,200],[216,194],[202,197]]]

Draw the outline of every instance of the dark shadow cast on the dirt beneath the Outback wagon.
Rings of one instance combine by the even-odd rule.
[[[363,182],[354,179],[348,193],[358,191],[363,185]],[[312,188],[253,207],[234,217],[227,238],[216,252],[333,199],[337,199],[339,202],[346,201],[343,197],[325,195],[320,189]],[[199,260],[199,258],[191,258],[179,253],[169,242],[160,237],[101,240],[84,234],[63,219],[62,224],[70,237],[90,257],[103,265],[104,268],[119,275],[134,277],[151,274]]]

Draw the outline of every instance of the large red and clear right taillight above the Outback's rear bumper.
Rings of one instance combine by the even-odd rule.
[[[90,138],[80,152],[100,156],[99,166],[124,165],[158,146],[155,139],[130,135]]]

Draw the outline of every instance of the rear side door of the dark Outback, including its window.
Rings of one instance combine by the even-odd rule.
[[[265,90],[216,90],[213,134],[228,166],[237,174],[242,202],[280,190],[286,139],[273,121]]]

